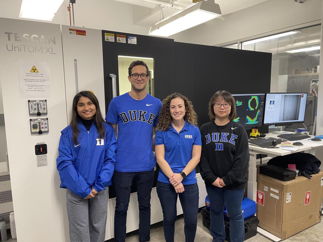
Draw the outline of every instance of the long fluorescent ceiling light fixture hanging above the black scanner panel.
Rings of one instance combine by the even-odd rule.
[[[221,16],[220,6],[214,0],[193,3],[152,26],[148,35],[170,36]]]

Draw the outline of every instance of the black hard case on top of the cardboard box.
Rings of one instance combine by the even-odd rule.
[[[296,171],[288,170],[279,166],[260,166],[259,170],[260,174],[270,176],[282,181],[293,180],[296,177]]]

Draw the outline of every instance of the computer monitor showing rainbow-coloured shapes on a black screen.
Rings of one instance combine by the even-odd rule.
[[[234,122],[246,129],[263,125],[265,93],[232,94],[232,96],[237,110]]]

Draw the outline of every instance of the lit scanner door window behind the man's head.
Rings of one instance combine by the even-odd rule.
[[[151,96],[154,96],[154,59],[147,57],[132,57],[132,56],[118,56],[119,67],[119,95],[130,92],[131,84],[128,80],[128,68],[131,62],[136,60],[144,61],[149,69],[150,80],[147,83],[146,91]]]

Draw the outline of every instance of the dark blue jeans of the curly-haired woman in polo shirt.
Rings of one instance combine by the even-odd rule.
[[[174,241],[176,202],[179,196],[184,214],[184,234],[186,242],[193,242],[196,234],[197,213],[199,210],[199,187],[197,183],[183,185],[184,192],[176,193],[170,183],[157,182],[157,195],[161,202],[166,242]]]

